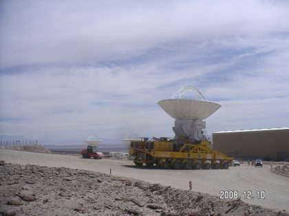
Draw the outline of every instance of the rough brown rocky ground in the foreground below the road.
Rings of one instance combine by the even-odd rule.
[[[0,164],[2,215],[288,215],[93,171]]]

